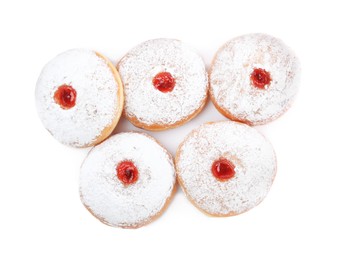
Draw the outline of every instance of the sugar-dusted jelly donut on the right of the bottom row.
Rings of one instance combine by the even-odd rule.
[[[175,158],[189,200],[213,216],[241,214],[259,204],[276,174],[271,144],[237,122],[206,123],[193,130]]]

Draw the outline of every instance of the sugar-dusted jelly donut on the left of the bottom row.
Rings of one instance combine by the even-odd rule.
[[[164,211],[175,190],[171,155],[152,137],[121,133],[94,147],[80,171],[80,197],[103,223],[138,228]]]

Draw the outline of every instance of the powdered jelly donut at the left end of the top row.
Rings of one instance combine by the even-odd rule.
[[[75,147],[107,138],[123,108],[117,70],[91,50],[73,49],[51,60],[40,74],[35,97],[46,129],[61,143]]]

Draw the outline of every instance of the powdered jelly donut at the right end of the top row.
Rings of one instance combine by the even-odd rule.
[[[259,125],[282,115],[297,92],[299,62],[279,39],[248,34],[227,42],[212,62],[210,96],[224,116]]]

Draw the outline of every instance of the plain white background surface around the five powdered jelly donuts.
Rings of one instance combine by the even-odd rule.
[[[1,1],[0,259],[339,259],[335,2]],[[251,32],[283,39],[302,64],[292,108],[257,127],[278,157],[264,202],[240,216],[212,218],[179,190],[160,219],[137,230],[92,217],[78,196],[88,149],[59,144],[35,111],[44,64],[78,47],[116,64],[140,42],[168,37],[195,48],[208,68],[225,41]],[[220,119],[209,104],[185,126],[151,134],[174,154],[191,129]],[[129,129],[122,120],[116,131]]]

